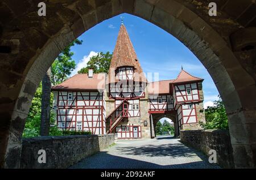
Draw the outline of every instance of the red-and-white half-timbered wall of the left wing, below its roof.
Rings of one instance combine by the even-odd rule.
[[[103,98],[102,92],[57,92],[57,126],[105,134]]]

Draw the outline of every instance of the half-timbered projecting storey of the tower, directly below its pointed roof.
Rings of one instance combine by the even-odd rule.
[[[115,100],[133,100],[145,97],[144,83],[122,80],[119,83],[109,84],[109,98]]]

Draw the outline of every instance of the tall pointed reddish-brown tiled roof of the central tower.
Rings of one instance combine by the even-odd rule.
[[[147,82],[146,77],[143,74],[141,64],[137,58],[137,54],[133,48],[130,37],[127,33],[125,25],[121,24],[117,43],[115,45],[112,61],[110,64],[109,76],[115,77],[115,70],[119,67],[130,66],[134,67],[135,77],[134,80],[137,82]],[[115,78],[114,78],[115,79]],[[111,78],[110,82],[117,82]]]

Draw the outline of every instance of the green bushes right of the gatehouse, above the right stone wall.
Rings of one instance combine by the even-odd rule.
[[[221,97],[214,101],[214,106],[202,109],[200,112],[205,112],[205,123],[200,122],[200,126],[204,129],[222,129],[228,130],[228,117],[226,115],[225,106]]]

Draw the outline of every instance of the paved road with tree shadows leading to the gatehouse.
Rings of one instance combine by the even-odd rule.
[[[118,140],[96,155],[85,158],[71,168],[137,169],[137,168],[220,168],[208,158],[172,137],[147,140]]]

